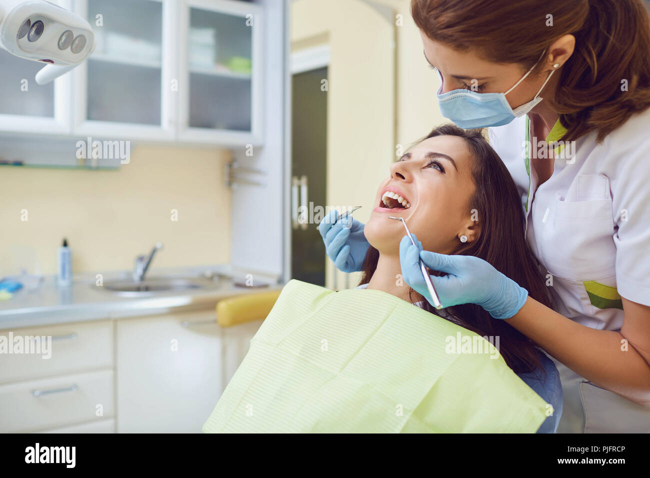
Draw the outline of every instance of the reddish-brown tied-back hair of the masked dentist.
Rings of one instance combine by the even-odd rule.
[[[435,42],[476,48],[488,61],[518,63],[524,71],[555,40],[573,34],[575,51],[547,98],[567,129],[562,140],[598,131],[602,142],[650,107],[650,20],[641,0],[411,0],[411,16]]]

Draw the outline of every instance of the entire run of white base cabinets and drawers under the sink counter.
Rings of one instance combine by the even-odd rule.
[[[200,432],[261,323],[211,308],[0,330],[51,338],[0,354],[0,433]]]

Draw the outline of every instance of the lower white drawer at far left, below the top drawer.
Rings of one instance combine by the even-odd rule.
[[[112,370],[0,385],[0,432],[46,430],[114,414]]]

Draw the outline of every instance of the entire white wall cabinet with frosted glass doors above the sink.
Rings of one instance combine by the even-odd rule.
[[[57,3],[88,20],[96,50],[73,72],[43,86],[34,80],[42,64],[0,51],[0,133],[263,143],[263,96],[274,93],[263,88],[263,5]],[[283,34],[281,25],[268,32]]]

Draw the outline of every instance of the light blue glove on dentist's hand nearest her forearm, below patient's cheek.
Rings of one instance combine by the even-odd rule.
[[[444,307],[478,304],[495,319],[509,319],[523,307],[528,291],[497,271],[490,263],[474,256],[448,256],[422,250],[422,243],[411,233],[400,242],[400,263],[404,282],[421,293],[432,305],[432,298],[422,277],[418,258],[433,271],[447,276],[430,276]]]

